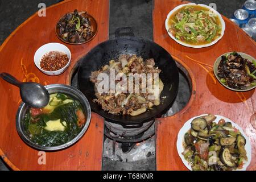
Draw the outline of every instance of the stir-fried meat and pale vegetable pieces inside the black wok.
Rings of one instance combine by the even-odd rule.
[[[100,73],[106,73],[110,78],[110,69],[115,70],[115,76],[118,73],[123,74],[127,78],[127,86],[114,93],[99,93],[97,85],[100,80],[97,77]],[[109,111],[112,114],[123,115],[139,115],[144,113],[147,109],[158,106],[160,104],[160,93],[163,90],[163,82],[157,78],[154,78],[154,73],[160,73],[161,70],[155,67],[154,59],[147,59],[143,61],[142,57],[136,55],[120,55],[118,60],[110,60],[108,65],[104,65],[100,70],[91,73],[90,81],[95,84],[96,97],[94,101],[102,106],[102,109]],[[133,84],[129,82],[129,73],[148,73],[152,74],[152,86],[146,87],[146,92],[142,92],[142,79],[139,79],[139,93],[129,93],[129,85],[133,85],[135,88],[135,79]],[[110,80],[109,80],[110,81]],[[115,85],[122,82],[122,78],[115,81]],[[123,81],[124,82],[124,81]],[[144,85],[146,86],[146,85]],[[159,92],[155,92],[155,89],[159,89]],[[157,95],[156,95],[157,93]],[[150,97],[155,96],[155,97]],[[154,98],[154,99],[152,99]]]

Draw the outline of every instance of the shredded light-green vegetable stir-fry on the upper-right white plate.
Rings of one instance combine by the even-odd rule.
[[[188,44],[208,44],[221,36],[218,16],[201,6],[184,6],[169,19],[168,30],[177,40]]]

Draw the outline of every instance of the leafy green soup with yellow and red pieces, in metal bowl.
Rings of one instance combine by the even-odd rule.
[[[79,101],[62,93],[50,95],[42,109],[30,108],[24,116],[24,130],[40,146],[60,146],[75,138],[85,123]]]

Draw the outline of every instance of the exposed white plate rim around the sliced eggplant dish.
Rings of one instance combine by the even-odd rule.
[[[202,114],[196,117],[193,117],[191,119],[189,119],[187,122],[185,122],[185,124],[183,125],[183,127],[180,129],[179,134],[177,135],[177,152],[182,160],[182,162],[184,163],[185,167],[187,167],[189,170],[192,171],[191,165],[188,163],[187,160],[185,160],[184,155],[182,155],[182,152],[184,151],[184,147],[183,147],[183,143],[184,143],[184,135],[185,133],[187,133],[187,131],[189,129],[191,129],[191,122],[193,121],[193,119],[197,118],[197,117],[201,117],[203,115],[207,115],[207,114]],[[220,119],[225,119],[226,122],[231,122],[233,127],[236,127],[236,129],[238,129],[241,134],[243,135],[243,137],[245,137],[246,139],[246,144],[245,144],[245,150],[247,152],[247,161],[244,161],[243,164],[243,168],[242,169],[237,169],[237,171],[245,171],[246,168],[249,166],[250,162],[251,162],[251,144],[250,144],[250,140],[249,138],[245,135],[245,133],[243,132],[243,130],[241,129],[240,126],[238,126],[236,123],[234,123],[233,121],[231,121],[228,118],[225,118],[221,115],[215,115],[217,118],[215,119],[214,122],[218,123],[218,121],[220,121]]]

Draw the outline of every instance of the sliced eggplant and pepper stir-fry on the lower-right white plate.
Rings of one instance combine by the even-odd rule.
[[[195,171],[231,171],[247,160],[246,139],[232,126],[212,114],[195,118],[184,136],[184,158]]]

